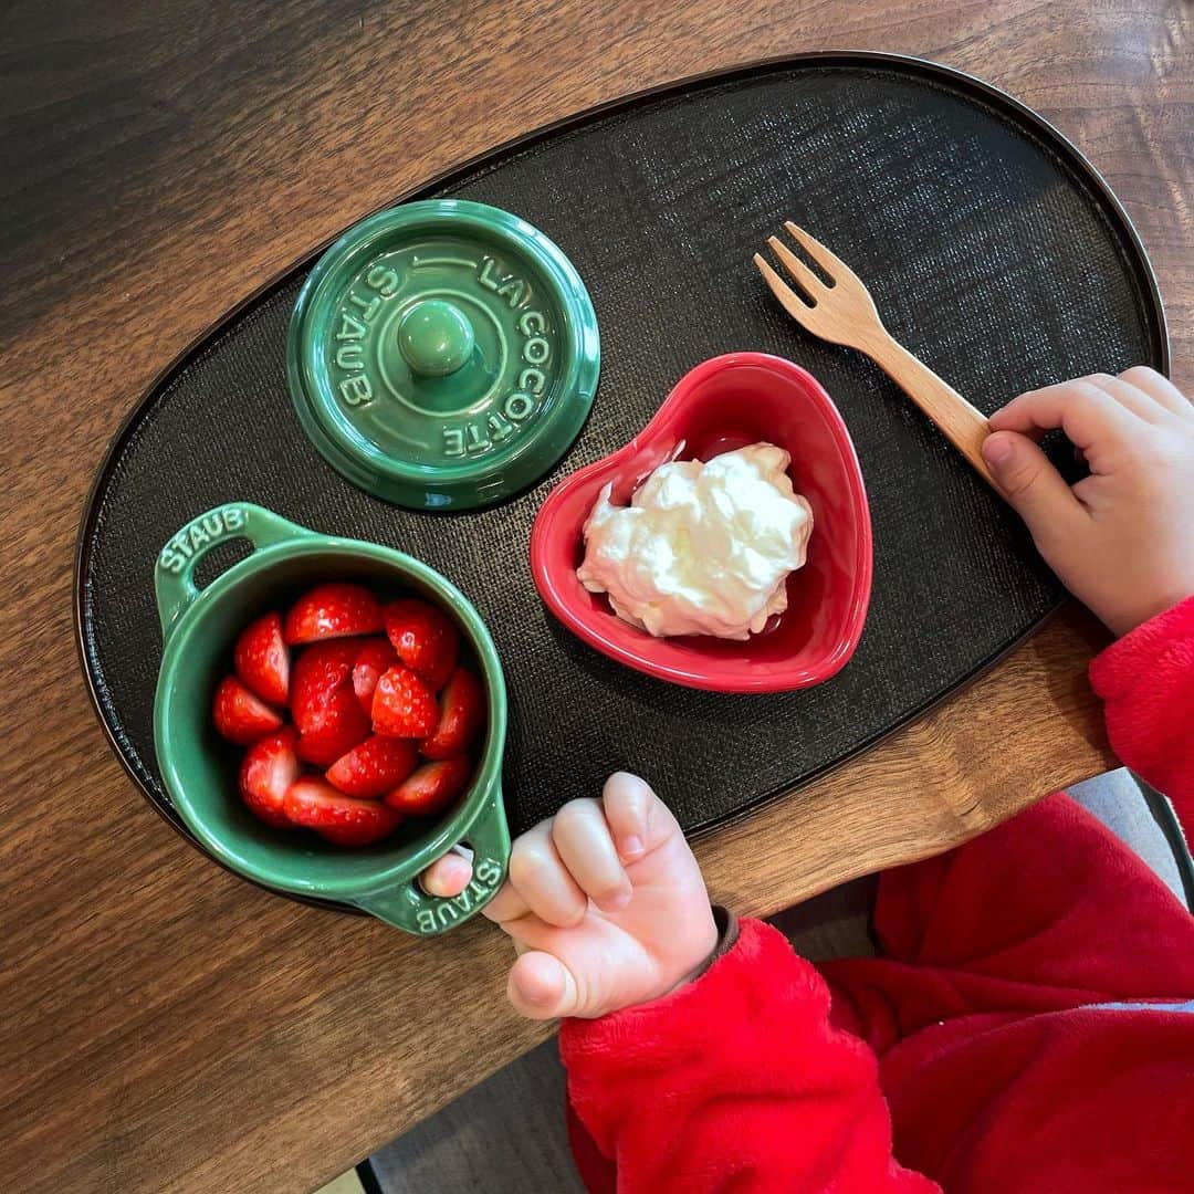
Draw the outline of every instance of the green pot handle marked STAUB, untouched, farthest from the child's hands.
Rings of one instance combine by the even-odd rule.
[[[229,501],[191,519],[162,547],[154,568],[162,639],[170,638],[181,615],[199,596],[195,568],[213,547],[234,538],[247,538],[256,552],[260,547],[288,543],[314,534],[251,501]]]

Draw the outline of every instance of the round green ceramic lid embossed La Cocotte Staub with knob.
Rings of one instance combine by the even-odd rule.
[[[463,199],[350,228],[307,278],[287,340],[315,447],[418,510],[488,505],[538,480],[580,431],[599,358],[592,302],[559,247]]]

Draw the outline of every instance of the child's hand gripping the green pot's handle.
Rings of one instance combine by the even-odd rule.
[[[718,942],[704,880],[676,818],[638,776],[605,781],[515,842],[485,909],[512,938],[524,1016],[603,1016],[700,971]]]

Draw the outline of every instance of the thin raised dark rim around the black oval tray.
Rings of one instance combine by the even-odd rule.
[[[474,171],[478,166],[486,161],[492,161],[498,158],[509,156],[519,149],[530,148],[542,141],[554,137],[556,134],[562,133],[570,128],[579,128],[580,125],[589,124],[603,116],[613,115],[614,112],[629,110],[636,105],[651,99],[663,99],[670,96],[679,96],[683,92],[695,90],[698,86],[707,84],[731,84],[744,81],[755,76],[763,76],[771,73],[777,73],[784,68],[799,67],[799,66],[820,66],[820,67],[858,67],[858,66],[884,66],[888,68],[897,68],[913,79],[924,80],[928,78],[930,81],[944,81],[950,84],[956,90],[962,92],[970,91],[975,92],[978,96],[992,104],[992,106],[1003,110],[1010,118],[1017,122],[1022,128],[1026,128],[1030,135],[1034,135],[1036,140],[1042,141],[1051,148],[1059,152],[1060,156],[1066,160],[1067,165],[1078,174],[1088,186],[1094,191],[1096,202],[1102,202],[1107,214],[1112,217],[1113,222],[1119,226],[1121,234],[1126,236],[1127,247],[1134,253],[1137,273],[1146,283],[1146,302],[1151,306],[1151,315],[1155,320],[1155,332],[1157,334],[1157,340],[1161,350],[1161,371],[1168,376],[1171,364],[1171,350],[1169,343],[1169,324],[1165,313],[1164,301],[1161,296],[1161,288],[1157,282],[1156,271],[1152,267],[1152,261],[1149,259],[1147,251],[1145,250],[1144,241],[1140,238],[1135,224],[1132,222],[1132,217],[1127,214],[1124,204],[1120,202],[1119,197],[1112,190],[1110,185],[1102,177],[1095,165],[1089,158],[1064,134],[1058,129],[1051,121],[1046,119],[1039,112],[1034,111],[1027,104],[1016,99],[1009,92],[1003,91],[1001,87],[990,84],[970,72],[961,70],[958,67],[946,66],[941,62],[934,62],[930,59],[923,59],[917,55],[910,54],[892,54],[885,50],[850,50],[850,49],[826,49],[826,50],[805,50],[798,54],[783,54],[783,55],[771,55],[761,59],[752,59],[747,62],[738,63],[730,67],[714,68],[710,70],[697,72],[696,74],[684,75],[679,79],[671,79],[661,84],[656,84],[650,87],[644,87],[635,92],[629,92],[624,96],[618,96],[614,99],[603,100],[599,104],[595,104],[590,107],[583,109],[578,112],[572,112],[568,116],[564,116],[556,121],[552,121],[547,124],[542,124],[535,129],[527,133],[518,134],[506,141],[498,142],[497,144],[490,146],[486,149],[480,150],[473,156],[454,162],[451,166],[433,174],[429,178],[423,179],[413,186],[399,192],[398,195],[390,197],[384,203],[378,207],[371,208],[368,211],[362,213],[357,216],[352,223],[357,223],[361,220],[365,220],[378,211],[384,211],[387,208],[394,207],[400,203],[410,202],[411,199],[423,195],[427,191],[435,190],[449,183],[453,178],[464,176]],[[350,224],[349,227],[352,227]],[[173,377],[181,371],[184,365],[190,361],[196,350],[217,337],[223,332],[240,314],[256,303],[261,296],[273,290],[278,285],[282,285],[289,277],[291,277],[298,270],[308,267],[312,261],[314,261],[319,254],[321,254],[333,241],[336,241],[346,229],[339,229],[333,235],[326,238],[306,254],[297,258],[296,260],[289,263],[277,273],[272,275],[260,285],[256,287],[248,294],[244,295],[233,306],[230,306],[224,313],[216,319],[213,324],[203,328],[196,337],[193,337],[176,356],[167,362],[148,382],[144,389],[141,392],[136,401],[129,407],[128,413],[122,418],[116,431],[112,433],[104,449],[104,454],[100,457],[99,464],[92,476],[91,485],[87,488],[87,496],[84,499],[82,511],[79,519],[79,529],[75,536],[75,549],[74,549],[74,561],[72,572],[72,621],[74,628],[74,642],[75,651],[79,659],[80,671],[82,672],[84,683],[87,690],[88,703],[91,704],[92,713],[96,715],[96,720],[99,722],[100,731],[103,732],[104,739],[107,744],[109,750],[116,756],[125,775],[133,781],[136,789],[141,793],[144,801],[158,813],[158,816],[170,825],[184,841],[186,841],[195,850],[197,850],[203,857],[214,862],[216,866],[229,874],[234,874],[242,882],[251,884],[261,891],[269,892],[273,896],[279,896],[282,898],[293,900],[298,904],[306,904],[309,907],[318,907],[325,911],[334,911],[340,913],[347,913],[353,916],[364,916],[365,913],[361,909],[352,907],[351,905],[341,904],[334,900],[322,900],[314,899],[310,897],[296,896],[289,892],[282,892],[277,888],[269,887],[264,884],[259,884],[253,879],[248,879],[241,875],[239,872],[234,872],[219,858],[209,854],[197,838],[186,829],[181,819],[178,818],[177,813],[162,806],[158,800],[156,795],[150,792],[149,787],[142,781],[141,776],[136,774],[133,764],[125,757],[124,751],[121,749],[119,741],[117,739],[116,728],[109,722],[104,714],[103,706],[100,703],[99,693],[96,685],[96,677],[92,673],[91,665],[87,657],[87,641],[84,633],[84,605],[86,598],[86,577],[87,568],[91,560],[91,531],[96,522],[97,511],[97,499],[99,498],[100,490],[105,487],[109,476],[112,472],[113,464],[119,456],[121,451],[125,447],[125,441],[129,438],[130,433],[135,431],[136,425],[140,421],[142,410],[153,400],[153,398],[167,386]],[[1066,597],[1059,598],[1054,605],[1047,610],[1036,622],[1029,626],[1022,635],[1016,638],[1014,641],[1008,644],[1003,650],[996,652],[990,658],[979,663],[971,672],[965,675],[956,684],[950,687],[943,693],[930,697],[928,701],[911,709],[909,714],[900,721],[887,727],[886,730],[873,734],[870,738],[858,743],[853,750],[842,755],[839,758],[833,759],[831,763],[818,768],[806,775],[800,782],[793,786],[786,786],[770,792],[765,792],[749,804],[743,805],[740,808],[726,814],[713,821],[707,821],[697,825],[695,829],[690,830],[687,836],[691,841],[706,837],[709,833],[716,832],[718,830],[727,829],[731,825],[738,824],[746,817],[757,813],[767,805],[773,804],[776,800],[783,799],[786,796],[794,795],[802,788],[808,787],[811,783],[824,778],[830,773],[844,767],[847,763],[853,762],[858,758],[866,751],[870,750],[873,746],[878,745],[884,739],[888,738],[891,734],[897,733],[905,726],[919,720],[925,713],[942,704],[944,701],[955,696],[956,694],[964,691],[974,684],[978,679],[985,676],[991,669],[1002,663],[1008,656],[1011,654],[1017,647],[1020,647],[1024,641],[1033,638],[1061,608],[1064,602],[1067,601]]]

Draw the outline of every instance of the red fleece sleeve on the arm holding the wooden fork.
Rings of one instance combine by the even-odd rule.
[[[1138,626],[1090,664],[1115,753],[1174,804],[1194,836],[1194,597]]]

